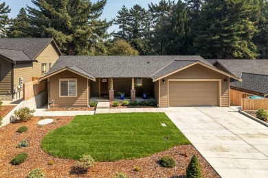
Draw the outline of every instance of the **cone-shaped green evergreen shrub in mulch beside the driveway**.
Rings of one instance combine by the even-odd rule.
[[[192,156],[192,159],[186,169],[186,177],[187,178],[201,178],[202,177],[202,172],[199,167],[197,157],[195,155]]]

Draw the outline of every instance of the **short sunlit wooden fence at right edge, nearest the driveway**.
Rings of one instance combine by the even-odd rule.
[[[241,110],[268,110],[268,99],[241,99]]]

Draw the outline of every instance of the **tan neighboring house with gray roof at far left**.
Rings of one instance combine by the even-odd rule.
[[[52,38],[0,38],[0,99],[22,97],[22,86],[43,77],[62,55]]]

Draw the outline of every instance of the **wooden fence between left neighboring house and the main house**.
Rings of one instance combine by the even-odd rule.
[[[23,84],[23,100],[35,97],[37,94],[47,90],[47,82],[38,80]]]

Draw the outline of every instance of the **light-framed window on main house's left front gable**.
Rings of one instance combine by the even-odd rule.
[[[60,97],[77,97],[77,79],[60,79]]]

